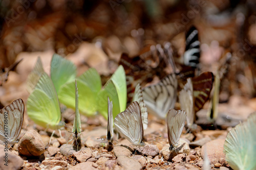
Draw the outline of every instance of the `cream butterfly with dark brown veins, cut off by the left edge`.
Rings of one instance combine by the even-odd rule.
[[[24,119],[24,102],[17,99],[0,111],[0,140],[14,144],[22,130]]]

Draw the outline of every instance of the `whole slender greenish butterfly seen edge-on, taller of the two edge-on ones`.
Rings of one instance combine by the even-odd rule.
[[[76,141],[76,152],[78,151],[78,145],[79,141],[78,139],[80,138],[81,135],[81,119],[80,119],[80,114],[78,110],[78,88],[77,88],[77,83],[75,80],[75,97],[76,97],[76,110],[75,110],[75,119],[73,123],[73,128],[72,128],[72,133],[73,133],[73,138]]]

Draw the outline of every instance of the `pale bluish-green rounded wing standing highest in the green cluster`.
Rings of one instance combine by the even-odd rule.
[[[63,84],[74,81],[75,77],[76,66],[71,61],[54,54],[51,61],[51,79],[56,92],[59,92]]]

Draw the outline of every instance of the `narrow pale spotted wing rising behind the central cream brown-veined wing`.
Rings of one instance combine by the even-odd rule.
[[[135,87],[133,102],[134,101],[137,101],[140,105],[143,129],[145,130],[147,128],[147,108],[146,108],[146,105],[143,101],[142,90],[141,90],[141,86],[140,86],[139,83]]]

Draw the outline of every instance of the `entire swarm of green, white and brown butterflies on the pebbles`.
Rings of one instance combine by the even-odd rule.
[[[200,41],[195,27],[191,27],[186,34],[186,51],[183,57],[184,66],[179,70],[174,62],[169,43],[166,43],[163,48],[159,45],[151,47],[150,50],[134,58],[122,54],[120,66],[103,87],[100,75],[94,68],[89,68],[81,76],[76,77],[76,66],[71,61],[54,54],[50,76],[48,76],[42,67],[40,57],[38,57],[27,80],[27,90],[30,93],[27,100],[27,113],[37,125],[57,130],[65,126],[65,123],[61,122],[60,103],[73,108],[75,118],[72,134],[75,139],[76,151],[78,151],[78,140],[82,132],[80,113],[86,116],[100,113],[108,119],[106,139],[109,142],[113,141],[114,125],[116,131],[132,144],[144,146],[143,131],[147,128],[149,112],[160,119],[166,119],[169,150],[173,151],[180,144],[179,139],[185,122],[190,131],[196,130],[195,113],[209,99],[214,83],[217,94],[211,100],[209,117],[215,119],[216,113],[213,114],[213,112],[218,112],[213,110],[212,105],[216,103],[216,98],[219,98],[219,74],[217,72],[216,78],[212,72],[203,72],[199,75]],[[152,58],[156,60],[152,61]],[[170,73],[163,69],[168,66],[172,68]],[[145,85],[153,74],[158,75],[161,80],[142,88],[141,86]],[[199,76],[195,76],[196,74]],[[131,103],[126,107],[127,92],[133,93],[133,98],[130,100],[130,96],[128,96]],[[177,97],[181,110],[175,110]],[[1,140],[4,141],[7,138],[10,144],[16,142],[22,129],[24,110],[22,99],[14,101],[1,110]],[[4,121],[6,112],[8,113],[7,124]],[[241,149],[232,146],[237,145],[235,141],[240,135],[246,135],[251,128],[255,129],[255,115],[256,113],[250,116],[249,125],[243,124],[245,130],[241,126],[236,131],[230,131],[224,145],[227,153]],[[7,125],[7,133],[5,125]],[[238,137],[234,137],[235,135]],[[255,135],[251,137],[251,140],[254,139]],[[253,142],[255,143],[255,140]],[[228,160],[232,162],[231,159]],[[255,168],[256,165],[254,164],[252,167]],[[232,166],[232,168],[240,169],[236,166]]]

